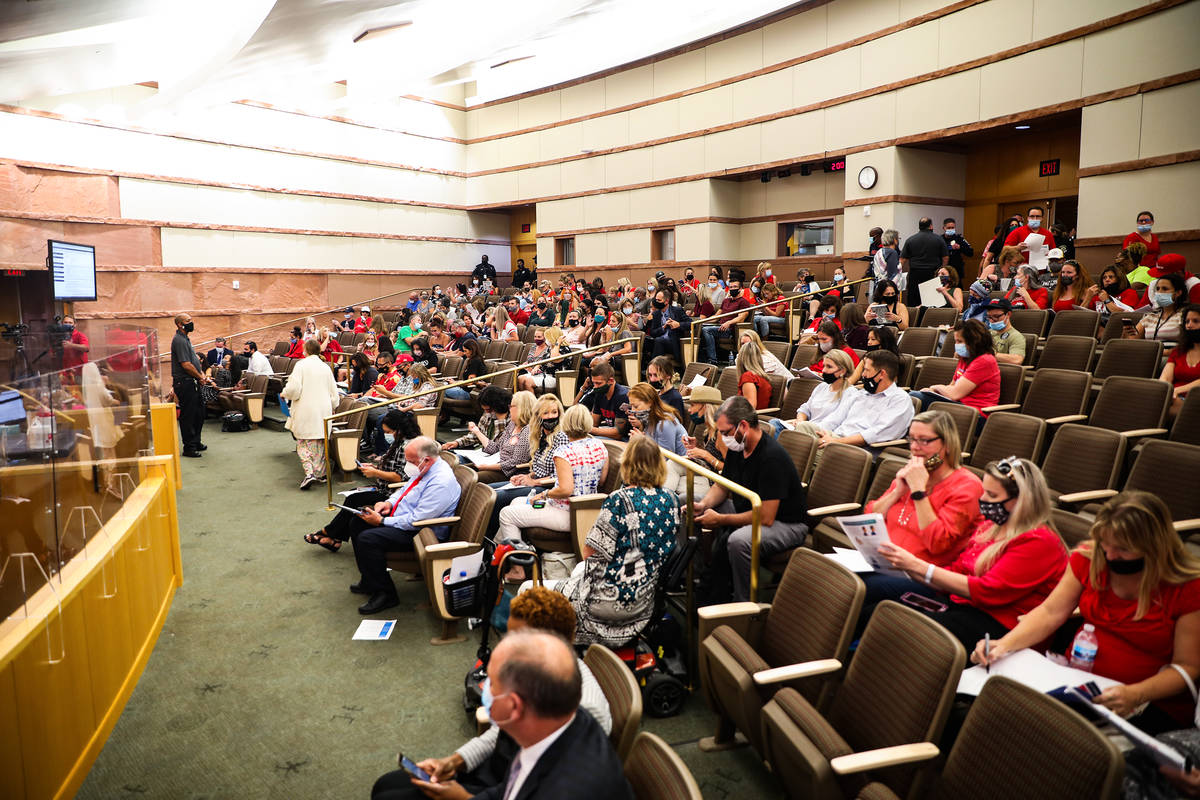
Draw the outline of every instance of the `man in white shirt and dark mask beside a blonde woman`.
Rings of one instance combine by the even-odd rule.
[[[821,434],[824,447],[830,441],[874,446],[904,438],[912,422],[908,392],[895,385],[900,360],[890,350],[874,350],[863,356],[863,391],[856,395],[841,425]]]

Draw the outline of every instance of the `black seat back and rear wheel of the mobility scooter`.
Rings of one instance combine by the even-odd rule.
[[[676,545],[659,571],[654,613],[629,644],[613,652],[625,662],[642,687],[642,708],[652,717],[670,717],[688,700],[688,660],[683,627],[667,610],[667,595],[685,585],[696,540]]]

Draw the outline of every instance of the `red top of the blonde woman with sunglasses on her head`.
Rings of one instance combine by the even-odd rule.
[[[954,602],[970,603],[986,612],[1012,630],[1016,618],[1028,614],[1050,596],[1067,570],[1067,548],[1058,534],[1049,528],[1034,528],[1016,535],[992,560],[983,575],[976,575],[976,561],[991,546],[982,535],[991,530],[988,519],[979,523],[954,564],[946,567],[967,576],[971,597],[950,595]]]

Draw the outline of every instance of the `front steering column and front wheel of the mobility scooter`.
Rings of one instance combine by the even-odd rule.
[[[485,569],[479,577],[479,591],[474,593],[474,603],[469,613],[481,616],[479,650],[475,651],[475,666],[467,673],[463,681],[462,706],[467,714],[474,715],[475,709],[484,704],[482,686],[487,678],[487,662],[492,657],[492,628],[503,631],[503,620],[508,619],[506,587],[515,590],[526,581],[538,582],[538,552],[523,542],[505,542],[496,545],[484,540]],[[464,609],[468,610],[468,609]],[[503,614],[497,614],[497,612]]]

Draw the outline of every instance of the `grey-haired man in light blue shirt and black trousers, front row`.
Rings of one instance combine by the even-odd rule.
[[[442,446],[428,437],[406,444],[404,473],[409,480],[390,498],[359,515],[366,528],[352,533],[350,541],[361,577],[350,591],[367,596],[367,602],[359,606],[360,614],[378,614],[400,604],[396,585],[388,577],[388,553],[412,551],[418,522],[449,517],[458,509],[462,488],[440,452]],[[439,542],[450,535],[448,525],[433,525],[432,531]]]

